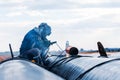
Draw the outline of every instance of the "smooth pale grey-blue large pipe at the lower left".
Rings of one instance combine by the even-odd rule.
[[[29,61],[15,59],[0,64],[0,80],[63,80]]]

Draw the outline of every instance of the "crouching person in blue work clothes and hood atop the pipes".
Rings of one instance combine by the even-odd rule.
[[[41,23],[30,30],[24,37],[20,47],[20,57],[35,60],[37,63],[44,61],[49,46],[56,43],[50,42],[46,37],[51,34],[51,27],[47,23]]]

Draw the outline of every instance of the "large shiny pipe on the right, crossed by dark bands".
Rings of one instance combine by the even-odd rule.
[[[51,56],[46,63],[50,71],[66,80],[120,80],[120,58]]]

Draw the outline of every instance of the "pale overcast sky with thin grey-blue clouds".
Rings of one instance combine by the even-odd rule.
[[[62,49],[69,40],[77,48],[120,47],[120,0],[0,0],[0,51],[18,51],[24,35],[48,23]],[[56,45],[53,45],[57,47]]]

